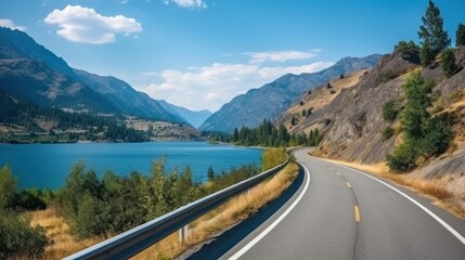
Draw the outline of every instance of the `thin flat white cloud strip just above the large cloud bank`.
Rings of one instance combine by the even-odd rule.
[[[308,60],[317,56],[319,50],[312,50],[310,52],[301,51],[268,51],[268,52],[246,52],[245,55],[250,56],[250,63],[263,63],[263,62],[287,62]]]

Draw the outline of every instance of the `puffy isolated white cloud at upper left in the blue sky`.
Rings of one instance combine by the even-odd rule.
[[[47,24],[57,25],[57,35],[83,43],[104,44],[114,42],[116,34],[128,36],[142,31],[142,25],[134,18],[122,15],[103,16],[93,9],[67,5],[55,9],[44,18]]]

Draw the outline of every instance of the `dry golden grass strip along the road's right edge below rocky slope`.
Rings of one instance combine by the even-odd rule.
[[[389,170],[385,162],[362,165],[360,162],[347,162],[331,159],[326,160],[352,167],[354,169],[359,169],[364,172],[373,173],[375,176],[393,181],[399,185],[410,188],[411,191],[427,196],[428,198],[432,199],[434,204],[438,207],[448,210],[458,218],[465,219],[465,209],[457,203],[460,198],[457,198],[442,184],[443,181],[441,179],[425,180],[412,178],[409,174],[396,174]]]

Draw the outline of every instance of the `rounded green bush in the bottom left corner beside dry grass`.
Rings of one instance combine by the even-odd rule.
[[[43,229],[30,226],[29,218],[0,210],[0,259],[37,259],[49,244]]]

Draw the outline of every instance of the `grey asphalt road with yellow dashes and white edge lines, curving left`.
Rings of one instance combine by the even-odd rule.
[[[220,258],[465,259],[464,220],[388,181],[306,152],[295,153],[307,169],[299,188]],[[231,232],[218,240],[233,237]]]

